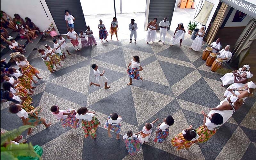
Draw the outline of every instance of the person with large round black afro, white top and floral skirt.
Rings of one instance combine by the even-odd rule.
[[[209,113],[206,115],[204,111],[201,112],[204,115],[204,124],[196,129],[199,135],[198,142],[203,143],[209,140],[223,124],[223,117],[219,113]],[[232,115],[232,114],[231,114]],[[207,117],[207,120],[206,120]],[[230,118],[230,117],[229,117]]]

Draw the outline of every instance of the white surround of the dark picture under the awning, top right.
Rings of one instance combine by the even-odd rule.
[[[236,9],[233,10],[224,27],[245,27],[248,24],[248,22],[252,19],[251,16],[246,15],[242,22],[232,22],[234,15],[236,14],[236,11]]]

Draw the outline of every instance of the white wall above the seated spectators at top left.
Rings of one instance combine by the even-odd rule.
[[[51,22],[56,28],[45,0],[41,0],[41,2],[44,8],[39,0],[1,0],[1,10],[12,18],[14,18],[15,13],[19,14],[24,21],[25,17],[30,18],[41,31],[48,28]],[[49,18],[47,18],[44,9]],[[56,28],[56,31],[59,33],[58,28]]]

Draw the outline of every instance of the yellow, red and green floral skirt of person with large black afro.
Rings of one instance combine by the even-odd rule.
[[[205,127],[204,125],[201,125],[200,127],[198,127],[196,129],[197,134],[199,135],[198,138],[198,142],[199,143],[203,143],[206,142],[207,140],[209,140],[215,133],[217,130],[208,130],[207,127]]]

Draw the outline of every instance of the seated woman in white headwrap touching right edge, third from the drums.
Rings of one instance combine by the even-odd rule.
[[[256,88],[255,83],[253,83],[251,81],[251,82],[248,82],[247,84],[245,84],[244,87],[228,89],[229,93],[228,93],[227,97],[233,95],[233,96],[236,96],[238,98],[245,100],[249,96],[250,97],[252,96],[255,88]]]

